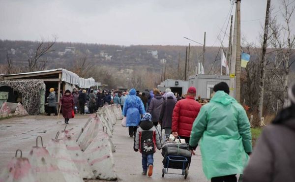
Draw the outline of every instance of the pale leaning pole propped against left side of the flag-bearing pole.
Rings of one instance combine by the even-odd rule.
[[[230,69],[230,95],[232,97],[235,96],[235,77],[236,77],[236,54],[237,54],[237,2],[236,1],[236,16],[235,16],[235,27],[234,27],[234,36],[233,36],[233,49],[232,49],[232,56],[231,56],[231,69]],[[237,94],[237,93],[236,93]]]

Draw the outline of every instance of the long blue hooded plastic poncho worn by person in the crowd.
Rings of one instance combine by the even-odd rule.
[[[126,98],[122,115],[126,116],[126,126],[138,126],[140,115],[145,114],[145,107],[142,100],[136,96],[136,90],[131,89],[129,96]]]

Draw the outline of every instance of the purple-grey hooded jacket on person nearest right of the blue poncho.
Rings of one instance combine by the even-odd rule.
[[[156,94],[151,99],[148,106],[148,113],[151,115],[151,121],[158,122],[163,100],[164,99],[161,94]]]

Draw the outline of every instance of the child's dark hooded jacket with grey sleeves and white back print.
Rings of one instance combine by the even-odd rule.
[[[151,121],[141,121],[134,138],[134,149],[143,154],[152,154],[162,149],[160,133]]]

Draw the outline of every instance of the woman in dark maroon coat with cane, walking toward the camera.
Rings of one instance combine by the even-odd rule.
[[[68,124],[70,118],[73,118],[72,114],[74,110],[74,100],[71,91],[66,90],[64,92],[63,97],[59,100],[59,105],[61,106],[64,123]]]

